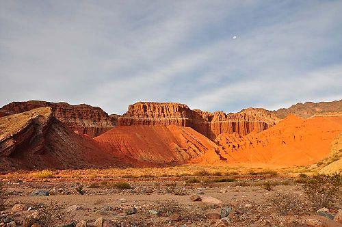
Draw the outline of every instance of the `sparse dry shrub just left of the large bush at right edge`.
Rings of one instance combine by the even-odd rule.
[[[300,215],[302,213],[302,201],[294,193],[275,193],[268,199],[273,208],[280,215]]]

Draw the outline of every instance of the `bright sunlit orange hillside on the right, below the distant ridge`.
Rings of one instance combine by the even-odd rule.
[[[224,159],[231,165],[310,165],[328,157],[332,139],[340,133],[341,114],[308,119],[289,115],[261,133],[222,133],[215,139],[218,149],[192,163],[215,164]]]

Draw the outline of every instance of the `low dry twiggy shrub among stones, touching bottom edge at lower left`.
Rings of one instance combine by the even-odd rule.
[[[34,204],[32,207],[39,212],[36,222],[42,227],[69,224],[73,222],[75,217],[75,213],[66,211],[66,204],[54,201],[49,202],[49,204]]]

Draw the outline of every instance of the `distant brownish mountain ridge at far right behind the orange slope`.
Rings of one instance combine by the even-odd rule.
[[[297,103],[289,108],[282,108],[272,113],[276,114],[278,118],[283,119],[294,114],[301,118],[309,118],[315,114],[325,114],[328,112],[342,112],[342,99],[340,101],[320,102],[320,103]]]

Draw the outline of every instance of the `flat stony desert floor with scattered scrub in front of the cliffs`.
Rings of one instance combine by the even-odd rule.
[[[38,210],[48,213],[52,226],[80,220],[94,226],[99,217],[107,220],[103,226],[307,226],[308,219],[317,226],[342,226],[311,208],[303,176],[290,170],[189,166],[2,173],[8,197],[1,220],[21,226]],[[32,196],[37,189],[49,196]],[[284,194],[284,201],[272,202]],[[193,201],[194,195],[202,201]],[[15,204],[25,205],[15,209]],[[326,213],[336,215],[341,208],[340,197]]]

